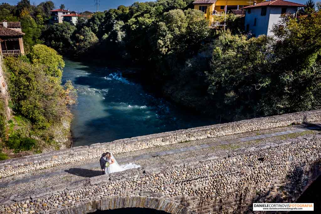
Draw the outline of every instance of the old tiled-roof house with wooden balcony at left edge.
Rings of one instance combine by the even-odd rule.
[[[20,22],[0,22],[0,42],[1,53],[3,56],[24,55],[22,36],[25,35],[21,30]]]

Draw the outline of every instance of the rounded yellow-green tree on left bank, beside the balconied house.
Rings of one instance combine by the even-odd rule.
[[[35,45],[30,51],[30,61],[35,66],[42,66],[47,75],[57,77],[59,82],[65,62],[57,51],[46,45]]]

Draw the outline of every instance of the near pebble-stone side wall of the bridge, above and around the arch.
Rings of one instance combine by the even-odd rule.
[[[295,202],[320,175],[320,151],[320,134],[222,151],[13,195],[0,212],[251,213],[253,202]]]

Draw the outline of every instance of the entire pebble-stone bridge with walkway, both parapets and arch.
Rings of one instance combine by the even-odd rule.
[[[1,161],[0,213],[248,213],[253,202],[295,202],[320,174],[320,123],[321,110],[298,112]],[[142,167],[102,175],[105,151]]]

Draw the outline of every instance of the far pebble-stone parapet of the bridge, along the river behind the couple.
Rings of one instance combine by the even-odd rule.
[[[100,157],[102,151],[112,151],[113,154],[118,154],[175,144],[188,140],[213,138],[248,131],[288,126],[293,123],[299,124],[304,122],[313,122],[317,120],[321,120],[321,110],[242,120],[238,122],[120,139],[108,143],[92,144],[91,146],[74,147],[71,149],[63,149],[39,155],[0,161],[0,177],[7,177],[57,165],[64,165],[83,159]]]

